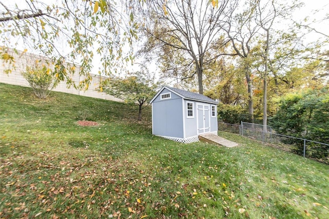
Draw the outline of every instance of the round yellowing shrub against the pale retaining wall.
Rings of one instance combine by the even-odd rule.
[[[33,66],[27,66],[22,75],[29,82],[34,94],[41,99],[46,99],[50,90],[56,87],[58,82],[49,66],[38,62],[35,62]]]

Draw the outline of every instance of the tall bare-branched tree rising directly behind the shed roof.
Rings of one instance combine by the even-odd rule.
[[[142,19],[148,20],[143,30],[158,46],[170,46],[192,59],[195,71],[189,77],[197,76],[200,94],[204,92],[204,64],[210,59],[206,51],[220,37],[222,15],[231,9],[230,2],[235,0],[151,0],[140,8]]]

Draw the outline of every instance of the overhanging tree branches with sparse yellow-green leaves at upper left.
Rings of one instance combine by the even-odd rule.
[[[133,14],[126,19],[117,10],[119,4],[113,0],[0,1],[1,55],[6,60],[8,47],[23,44],[51,59],[58,78],[68,83],[75,69],[63,63],[77,63],[85,80],[76,86],[86,87],[95,56],[102,63],[99,72],[107,75],[121,69],[121,61],[132,59],[122,47],[132,43],[137,24]]]

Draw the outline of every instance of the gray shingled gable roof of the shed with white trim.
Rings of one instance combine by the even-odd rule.
[[[209,97],[206,97],[205,95],[197,94],[197,93],[193,93],[193,92],[188,92],[187,90],[182,90],[182,89],[178,89],[178,88],[174,88],[174,87],[168,87],[168,86],[162,86],[161,89],[158,91],[158,93],[156,93],[156,95],[152,98],[152,100],[150,102],[152,103],[155,100],[155,98],[165,88],[167,88],[171,92],[177,94],[178,96],[180,96],[181,98],[184,98],[184,99],[196,100],[196,101],[201,101],[201,102],[218,104],[217,101],[215,101],[215,100],[213,100],[213,99],[211,99]]]

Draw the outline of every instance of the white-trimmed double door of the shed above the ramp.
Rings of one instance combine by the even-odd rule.
[[[196,104],[197,134],[210,132],[210,105]]]

